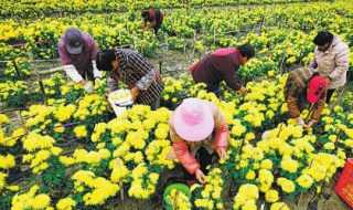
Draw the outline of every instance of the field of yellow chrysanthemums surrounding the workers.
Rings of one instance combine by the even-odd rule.
[[[165,12],[159,39],[142,29],[146,8]],[[0,15],[0,209],[163,209],[165,177],[182,178],[173,174],[178,159],[165,159],[168,119],[186,97],[220,107],[228,157],[215,159],[207,183],[193,186],[191,199],[181,196],[176,209],[307,209],[311,198],[318,209],[350,209],[332,195],[353,157],[353,53],[346,85],[312,129],[286,125],[281,115],[288,72],[312,61],[318,30],[340,35],[352,52],[352,1],[9,0]],[[104,78],[87,94],[53,71],[68,27],[100,50],[127,46],[160,67],[161,107],[135,105],[110,119]],[[237,72],[247,94],[223,85],[218,99],[193,83],[192,63],[247,42],[256,57]]]

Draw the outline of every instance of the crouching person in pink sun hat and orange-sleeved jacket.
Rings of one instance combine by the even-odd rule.
[[[206,167],[216,151],[226,157],[228,126],[218,107],[208,101],[186,98],[169,119],[175,157],[184,170],[188,186],[206,181]]]

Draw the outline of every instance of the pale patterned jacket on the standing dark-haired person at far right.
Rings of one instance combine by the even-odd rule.
[[[315,59],[309,67],[315,67],[322,76],[331,78],[329,90],[342,87],[346,82],[350,49],[339,36],[334,36],[331,46],[325,52],[315,48]]]

